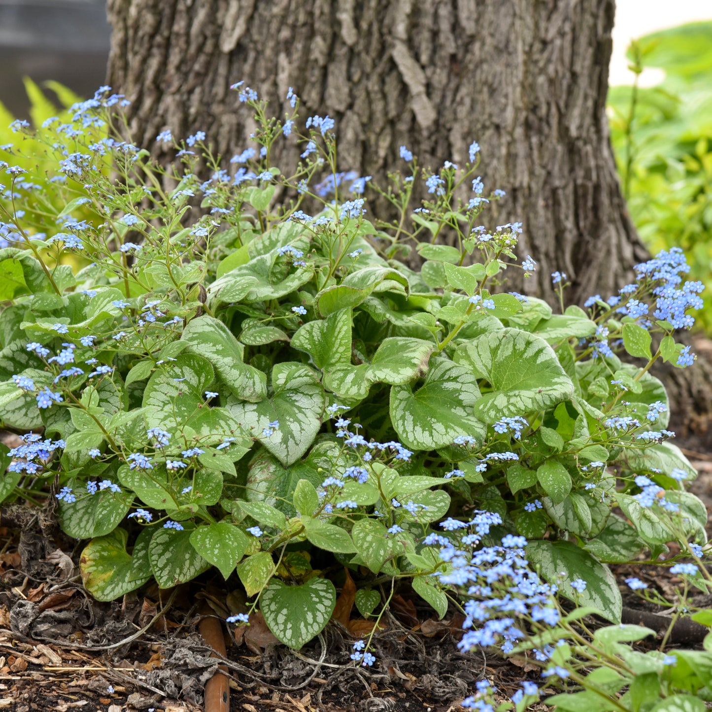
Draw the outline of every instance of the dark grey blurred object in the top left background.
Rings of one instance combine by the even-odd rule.
[[[93,95],[105,80],[109,39],[104,0],[0,0],[0,102],[27,118],[23,76]]]

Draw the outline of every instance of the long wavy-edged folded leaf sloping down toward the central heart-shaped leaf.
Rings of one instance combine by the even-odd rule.
[[[190,320],[181,340],[189,343],[189,352],[211,362],[237,398],[257,402],[266,397],[266,375],[242,362],[243,345],[220,320],[208,315]]]

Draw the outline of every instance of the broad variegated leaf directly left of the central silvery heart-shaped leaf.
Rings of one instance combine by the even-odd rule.
[[[213,377],[209,361],[195,354],[181,354],[166,370],[156,371],[143,393],[148,426],[180,429],[204,404]]]

